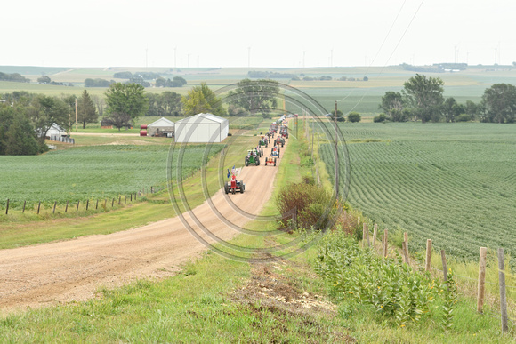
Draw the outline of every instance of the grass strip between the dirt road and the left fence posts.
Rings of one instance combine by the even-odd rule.
[[[223,156],[220,153],[214,156],[214,153],[220,150],[220,145],[215,145],[214,150],[209,155],[213,156],[206,164],[206,192],[209,196],[213,196],[214,193],[221,188],[219,184],[221,164],[225,166],[225,168],[232,165],[239,167],[243,164],[242,156],[246,154],[246,149],[256,143],[256,138],[253,136],[235,136],[234,138],[235,141],[226,148]],[[198,145],[192,146],[187,146],[185,150],[185,159],[187,162],[189,161],[189,153],[201,147]],[[109,147],[124,148],[124,146]],[[140,149],[136,147],[133,148],[137,150]],[[168,149],[168,147],[166,147],[166,149]],[[74,148],[70,150],[71,152],[68,153],[71,153],[71,156],[73,156]],[[154,151],[161,152],[159,147],[155,147]],[[148,154],[149,152],[152,152],[152,150],[145,148],[141,150],[141,154]],[[174,153],[174,156],[174,161],[176,161],[176,157],[178,156],[177,152]],[[190,176],[189,174],[191,172],[189,172],[190,170],[188,168],[184,171],[188,178],[183,180],[182,190],[190,208],[194,208],[206,200],[203,188],[199,188],[199,185],[201,185],[201,172],[198,171],[198,166],[201,162],[202,159],[199,157],[196,163],[197,165],[195,165],[195,170],[191,170],[193,174]],[[224,177],[225,168],[222,169]],[[161,172],[163,173],[163,178],[165,178],[165,171]],[[175,178],[175,174],[173,174],[173,178]],[[0,213],[0,233],[2,237],[0,249],[47,243],[77,236],[109,234],[173,217],[177,214],[175,212],[176,207],[178,212],[186,211],[185,205],[182,204],[177,194],[177,184],[173,183],[173,186],[178,204],[171,203],[167,189],[158,194],[150,195],[149,188],[145,189],[145,197],[139,196],[137,202],[134,202],[134,200],[131,202],[131,199],[127,198],[125,203],[125,196],[122,196],[121,206],[117,205],[118,196],[115,196],[116,202],[114,208],[111,207],[112,197],[109,197],[106,208],[103,207],[103,204],[108,196],[101,198],[98,210],[94,209],[96,200],[90,198],[90,208],[87,212],[85,210],[85,199],[81,200],[78,212],[76,212],[77,202],[69,204],[68,212],[65,212],[66,204],[58,204],[55,214],[52,213],[53,203],[44,203],[41,206],[39,215],[36,214],[36,204],[29,204],[25,213],[22,214],[20,204],[10,203],[9,214],[5,215],[4,212]],[[160,187],[163,188],[164,185],[160,185]],[[12,208],[12,206],[14,206],[14,208]]]

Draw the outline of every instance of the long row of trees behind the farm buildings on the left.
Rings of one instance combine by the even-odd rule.
[[[52,125],[71,131],[77,121],[113,125],[118,130],[132,126],[141,116],[217,116],[269,114],[277,107],[278,83],[244,79],[229,92],[227,105],[206,83],[192,87],[188,94],[147,93],[141,84],[113,83],[102,99],[90,96],[47,96],[25,91],[0,94],[0,155],[36,155],[48,150],[44,140]]]

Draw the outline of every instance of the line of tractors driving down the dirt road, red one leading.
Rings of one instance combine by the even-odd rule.
[[[262,132],[260,133],[262,137],[258,141],[258,146],[247,150],[247,156],[244,161],[246,166],[249,166],[251,164],[259,166],[260,158],[264,155],[263,148],[268,148],[269,145],[271,145],[272,147],[270,148],[270,155],[265,157],[265,165],[276,166],[277,161],[279,159],[281,148],[285,147],[285,140],[288,139],[288,126],[286,125],[286,121],[285,123],[283,123],[284,120],[278,122],[279,123],[273,122],[272,124],[270,124],[269,132],[267,132],[266,134],[263,134]],[[274,136],[276,136],[276,134],[278,134],[278,137],[274,139]],[[235,194],[237,192],[243,194],[246,190],[246,185],[242,180],[237,180],[235,172],[231,172],[230,174],[231,179],[224,185],[224,192],[226,194]]]

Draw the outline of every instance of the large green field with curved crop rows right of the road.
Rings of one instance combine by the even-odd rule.
[[[465,260],[480,246],[516,252],[516,126],[341,124],[351,162],[348,201],[382,228]],[[333,152],[321,156],[330,175]],[[343,168],[341,168],[343,172]],[[332,177],[333,178],[333,177]]]

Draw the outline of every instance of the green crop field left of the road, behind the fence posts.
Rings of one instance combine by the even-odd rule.
[[[204,145],[187,146],[181,164],[183,176],[199,169]],[[177,149],[177,148],[176,148]],[[209,156],[222,145],[212,145]],[[168,146],[106,145],[51,151],[41,156],[0,156],[0,208],[20,208],[43,202],[128,195],[151,186],[165,186]],[[179,156],[174,153],[172,166]],[[173,179],[176,172],[172,172]]]

